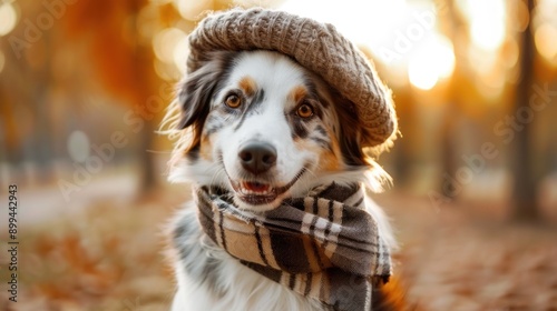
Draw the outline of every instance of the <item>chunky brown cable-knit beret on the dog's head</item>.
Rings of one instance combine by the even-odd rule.
[[[187,72],[215,50],[272,50],[321,76],[355,104],[363,147],[395,137],[397,117],[390,90],[367,58],[329,23],[283,11],[231,10],[205,18],[189,34]]]

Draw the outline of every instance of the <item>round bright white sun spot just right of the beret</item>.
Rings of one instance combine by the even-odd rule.
[[[441,79],[449,78],[455,70],[452,43],[443,36],[428,38],[410,57],[408,78],[421,90],[432,89]]]

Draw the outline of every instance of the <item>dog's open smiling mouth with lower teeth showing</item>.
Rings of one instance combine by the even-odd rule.
[[[231,178],[231,184],[236,197],[250,205],[270,204],[281,194],[285,193],[296,181],[304,174],[305,169],[302,169],[289,183],[276,187],[263,181],[240,180],[235,181]]]

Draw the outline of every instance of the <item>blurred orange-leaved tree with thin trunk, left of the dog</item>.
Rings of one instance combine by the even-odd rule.
[[[141,190],[156,184],[156,169],[149,150],[153,150],[154,131],[158,119],[149,108],[149,98],[159,93],[162,81],[154,70],[153,49],[143,43],[137,27],[137,16],[147,3],[145,0],[79,1],[72,4],[65,18],[67,36],[72,40],[85,38],[89,44],[87,59],[105,90],[124,100],[144,118],[137,151],[141,168]],[[156,114],[162,114],[162,109]],[[147,117],[146,117],[147,116]]]

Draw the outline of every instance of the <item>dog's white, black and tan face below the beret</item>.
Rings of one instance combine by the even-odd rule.
[[[186,79],[179,104],[190,134],[174,175],[224,187],[240,208],[270,210],[368,169],[352,103],[280,53],[211,54]]]

